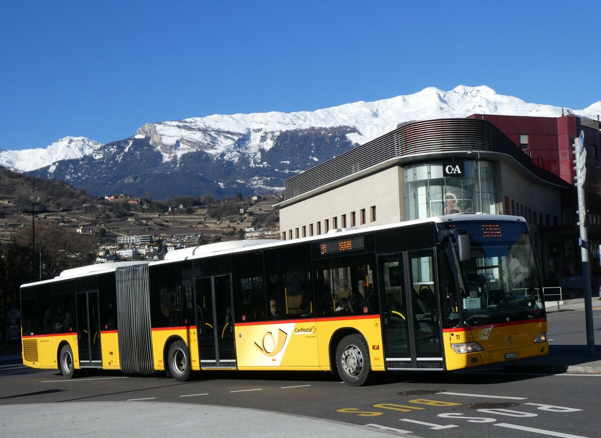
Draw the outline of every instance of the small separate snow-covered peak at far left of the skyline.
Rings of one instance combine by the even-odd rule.
[[[10,170],[26,172],[64,159],[82,158],[94,153],[102,144],[86,137],[65,137],[37,149],[2,150],[0,165]]]

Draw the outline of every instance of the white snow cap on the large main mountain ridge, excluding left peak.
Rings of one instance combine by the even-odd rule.
[[[593,109],[593,106],[589,109]],[[190,151],[204,150],[213,157],[224,154],[225,159],[237,161],[240,155],[248,155],[252,157],[252,163],[260,159],[261,150],[267,151],[273,145],[273,141],[267,141],[267,135],[273,139],[291,129],[350,126],[356,128],[359,134],[352,133],[347,137],[360,144],[392,131],[400,123],[466,117],[474,113],[558,117],[561,108],[526,103],[517,97],[497,94],[486,85],[459,85],[450,91],[428,87],[415,94],[374,102],[345,103],[316,111],[213,114],[151,123],[138,129],[138,135],[151,137],[153,146],[163,154],[163,161],[182,157],[183,151],[178,153],[175,147],[179,142],[188,144]],[[573,113],[588,115],[588,111],[584,110]],[[261,135],[257,135],[257,132],[261,132]]]

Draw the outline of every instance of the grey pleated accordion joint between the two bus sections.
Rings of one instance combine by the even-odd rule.
[[[121,371],[153,374],[148,265],[117,268],[115,279]]]

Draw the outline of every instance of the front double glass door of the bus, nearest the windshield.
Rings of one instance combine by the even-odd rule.
[[[441,369],[441,334],[432,250],[378,258],[387,369]]]

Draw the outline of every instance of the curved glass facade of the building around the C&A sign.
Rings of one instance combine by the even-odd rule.
[[[480,161],[478,172],[477,160],[456,163],[462,171],[452,176],[445,176],[448,164],[442,162],[413,164],[404,168],[406,220],[453,213],[500,213],[495,203],[494,164]]]

